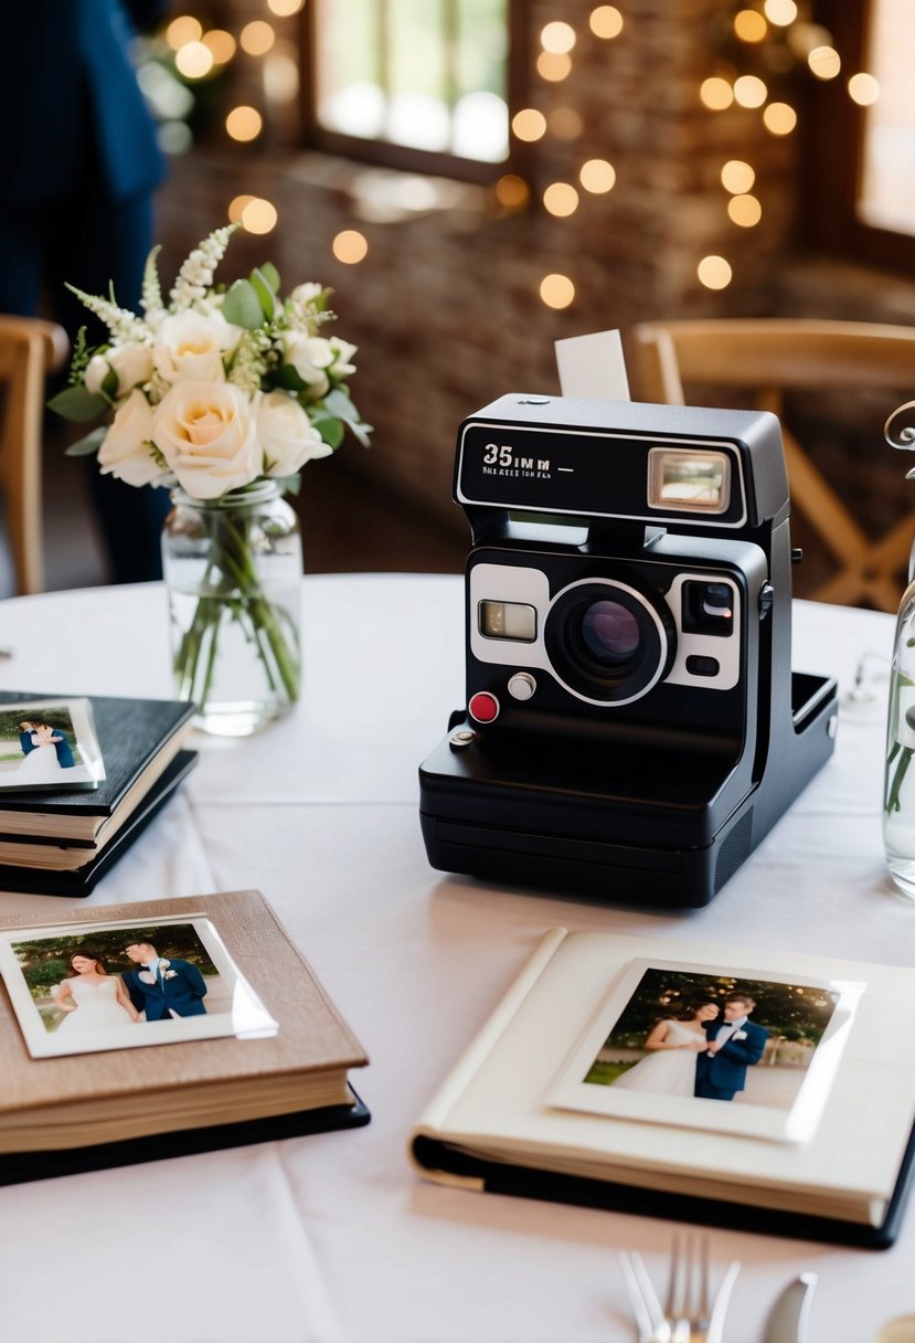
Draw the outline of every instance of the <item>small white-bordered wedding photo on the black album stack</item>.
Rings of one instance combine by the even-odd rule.
[[[103,779],[89,700],[0,704],[0,794],[97,788]]]

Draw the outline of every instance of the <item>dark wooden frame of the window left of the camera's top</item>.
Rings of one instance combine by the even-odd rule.
[[[318,149],[356,163],[394,168],[401,172],[424,173],[427,176],[452,177],[458,181],[490,184],[507,172],[518,171],[518,142],[511,134],[511,118],[530,89],[530,0],[506,0],[508,9],[508,54],[506,59],[506,94],[508,101],[508,153],[498,163],[462,158],[458,154],[429,149],[415,149],[386,140],[370,140],[362,136],[347,136],[329,130],[318,121],[315,91],[318,60],[318,5],[309,3],[301,11],[299,50],[302,55],[303,78],[301,81],[302,138],[307,149]]]

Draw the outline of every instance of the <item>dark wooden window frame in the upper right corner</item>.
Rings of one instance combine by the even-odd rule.
[[[813,79],[804,99],[802,226],[813,247],[845,261],[915,274],[915,235],[863,223],[856,214],[865,107],[848,97],[847,75],[865,68],[869,0],[816,0],[813,17],[843,58],[837,79]]]

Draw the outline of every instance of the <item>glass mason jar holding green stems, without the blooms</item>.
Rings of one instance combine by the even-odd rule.
[[[217,736],[248,736],[299,694],[302,543],[274,481],[217,500],[172,492],[162,532],[178,698]]]

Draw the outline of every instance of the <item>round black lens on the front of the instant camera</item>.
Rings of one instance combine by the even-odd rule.
[[[676,629],[660,592],[601,577],[573,583],[553,600],[543,642],[557,680],[590,704],[641,698],[669,670]]]

